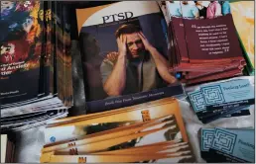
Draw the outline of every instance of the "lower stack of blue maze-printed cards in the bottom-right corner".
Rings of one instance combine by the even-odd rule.
[[[253,128],[203,127],[198,132],[200,155],[208,163],[254,163]]]

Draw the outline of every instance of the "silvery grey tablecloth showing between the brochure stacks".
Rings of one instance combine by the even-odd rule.
[[[72,41],[73,42],[73,41]],[[75,42],[74,42],[75,43]],[[75,49],[75,48],[74,48]],[[77,48],[76,48],[77,49]],[[85,114],[85,97],[83,86],[83,75],[81,70],[81,61],[78,51],[73,51],[72,55],[72,76],[73,76],[73,91],[74,91],[74,107],[70,110],[69,116],[77,116]],[[248,77],[245,77],[248,78]],[[254,77],[249,77],[254,84]],[[197,86],[187,88],[187,90],[193,90]],[[187,132],[192,144],[194,155],[197,162],[204,162],[199,155],[199,143],[197,132],[200,127],[254,127],[254,106],[250,107],[250,116],[237,117],[237,118],[225,118],[219,119],[212,123],[202,124],[198,121],[194,113],[192,112],[191,105],[184,100],[180,100],[180,107],[184,121],[186,123]],[[45,144],[44,135],[45,126],[35,127],[23,131],[15,132],[16,137],[16,154],[15,162],[19,163],[39,163],[41,149]]]

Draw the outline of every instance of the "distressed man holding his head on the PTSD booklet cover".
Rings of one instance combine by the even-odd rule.
[[[139,27],[123,25],[115,36],[118,52],[107,54],[100,66],[103,89],[108,96],[149,91],[177,82],[168,70],[168,61]]]

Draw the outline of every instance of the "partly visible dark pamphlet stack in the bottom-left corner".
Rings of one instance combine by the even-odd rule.
[[[1,163],[13,163],[15,156],[15,144],[7,134],[1,134]]]

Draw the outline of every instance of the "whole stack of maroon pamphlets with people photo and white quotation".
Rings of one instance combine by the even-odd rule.
[[[161,9],[168,16],[171,70],[183,82],[243,74],[246,61],[228,1],[166,1]]]

